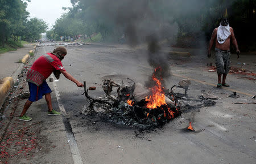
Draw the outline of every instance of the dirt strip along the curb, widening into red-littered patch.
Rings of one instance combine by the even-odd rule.
[[[9,97],[1,108],[0,120],[0,163],[27,163],[39,153],[47,152],[49,141],[41,134],[42,122],[20,122],[19,110],[24,105],[28,94],[23,90],[26,86],[26,66],[18,75],[19,82],[11,89]],[[22,94],[26,93],[26,94]]]

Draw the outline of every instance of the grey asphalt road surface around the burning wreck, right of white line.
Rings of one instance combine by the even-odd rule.
[[[147,50],[132,49],[125,45],[68,46],[63,59],[64,68],[77,80],[86,81],[88,87],[97,89],[91,96],[101,96],[102,79],[111,77],[117,83],[130,77],[143,83],[154,68],[147,62]],[[53,46],[37,48],[42,54]],[[213,61],[213,59],[210,59]],[[234,61],[236,59],[233,59]],[[255,64],[246,57],[240,60]],[[254,59],[255,60],[255,59]],[[96,116],[81,114],[88,103],[84,90],[61,75],[56,85],[59,103],[63,105],[72,127],[77,150],[84,163],[255,163],[256,129],[255,80],[238,79],[242,75],[228,75],[228,89],[239,91],[240,98],[230,98],[232,90],[217,89],[216,72],[208,72],[209,60],[203,53],[194,52],[191,57],[166,56],[172,75],[166,79],[167,87],[177,84],[183,77],[192,79],[188,96],[198,98],[201,90],[220,97],[216,106],[199,110],[184,110],[178,118],[163,128],[151,132],[139,132],[135,128],[117,126]],[[236,63],[237,61],[235,61]],[[242,63],[241,62],[241,63]],[[96,84],[97,83],[97,84]],[[52,88],[52,87],[51,87]],[[177,89],[177,92],[183,90]],[[56,92],[53,92],[53,94]],[[56,107],[56,106],[55,106]],[[192,122],[195,132],[184,129]]]

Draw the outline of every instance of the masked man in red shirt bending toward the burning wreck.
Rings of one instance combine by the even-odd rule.
[[[44,95],[48,106],[48,115],[60,115],[59,112],[52,109],[51,92],[46,83],[46,79],[49,75],[54,75],[59,79],[60,73],[67,79],[76,83],[77,87],[84,87],[82,83],[77,81],[71,74],[65,71],[61,60],[67,55],[67,49],[63,46],[59,46],[53,50],[52,53],[47,53],[36,59],[32,64],[30,70],[27,72],[28,87],[30,89],[30,97],[25,103],[19,120],[30,121],[32,118],[26,115],[26,111],[31,106],[32,102],[40,100]]]

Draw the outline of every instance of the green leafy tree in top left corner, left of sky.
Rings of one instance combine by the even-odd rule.
[[[27,19],[27,2],[30,0],[0,0],[1,52],[20,48],[23,46],[22,38],[34,41],[40,38],[40,33],[46,31],[47,25],[43,20]]]

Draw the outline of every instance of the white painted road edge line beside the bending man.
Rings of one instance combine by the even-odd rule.
[[[44,49],[44,47],[43,47],[43,49]],[[46,49],[44,49],[44,53],[46,53]],[[51,77],[54,78],[53,75],[51,75]],[[54,91],[56,94],[56,98],[57,98],[57,102],[59,104],[60,111],[64,116],[67,116],[64,105],[60,102],[60,93],[59,93],[59,90],[57,89],[57,84],[54,81],[52,83],[53,83],[53,88],[54,88]],[[81,155],[79,153],[79,148],[76,143],[75,136],[73,135],[73,133],[68,132],[68,131],[66,131],[66,136],[68,139],[68,144],[69,144],[69,148],[72,153],[72,158],[73,158],[74,163],[83,163]]]

